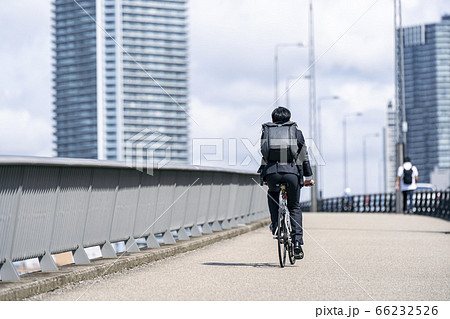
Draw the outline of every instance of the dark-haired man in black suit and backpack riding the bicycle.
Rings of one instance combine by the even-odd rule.
[[[263,124],[261,153],[263,158],[258,173],[267,183],[270,211],[270,230],[274,235],[278,227],[280,184],[286,184],[287,206],[292,219],[294,257],[304,256],[300,189],[314,185],[305,139],[297,124],[291,122],[291,112],[277,107],[272,112],[272,123]],[[303,181],[305,179],[305,181]]]

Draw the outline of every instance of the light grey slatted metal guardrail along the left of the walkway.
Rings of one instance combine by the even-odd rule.
[[[0,157],[0,276],[19,280],[12,262],[39,258],[42,271],[58,270],[52,254],[136,239],[159,247],[268,217],[259,176],[226,169],[171,166],[153,175],[120,162]]]

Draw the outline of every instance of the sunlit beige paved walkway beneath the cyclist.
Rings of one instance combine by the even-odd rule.
[[[38,300],[450,300],[450,222],[304,214],[305,258],[280,269],[268,229]]]

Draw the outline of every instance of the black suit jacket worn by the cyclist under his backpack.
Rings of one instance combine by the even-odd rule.
[[[264,131],[261,135],[261,140],[265,139]],[[303,137],[302,131],[297,129],[297,145],[299,156],[297,161],[294,163],[278,163],[278,162],[267,162],[263,158],[261,160],[261,166],[258,169],[258,173],[261,174],[263,180],[269,174],[275,173],[290,173],[295,174],[301,177],[301,181],[303,180],[303,176],[309,177],[312,176],[311,166],[309,164],[309,156],[305,143],[305,138]]]

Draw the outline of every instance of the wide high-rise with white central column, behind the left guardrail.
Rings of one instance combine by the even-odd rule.
[[[57,156],[125,160],[157,132],[154,156],[187,162],[187,19],[187,0],[54,1]]]

